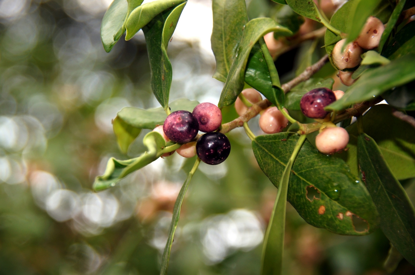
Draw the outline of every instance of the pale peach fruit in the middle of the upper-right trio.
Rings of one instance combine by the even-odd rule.
[[[351,42],[344,47],[342,52],[344,42],[346,42],[346,39],[337,42],[332,52],[333,63],[339,70],[354,68],[362,60],[360,55],[363,53],[363,49],[356,42]]]

